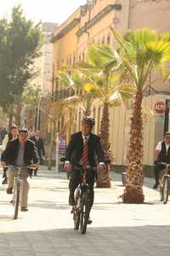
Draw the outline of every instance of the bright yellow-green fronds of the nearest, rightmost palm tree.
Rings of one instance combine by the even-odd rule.
[[[114,29],[111,31],[120,44],[116,55],[122,58],[122,67],[126,68],[136,87],[143,90],[150,70],[163,69],[164,63],[170,60],[170,33],[157,34],[142,28],[129,31],[122,38]]]

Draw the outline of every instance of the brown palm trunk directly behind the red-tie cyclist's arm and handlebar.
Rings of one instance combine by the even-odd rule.
[[[100,130],[100,141],[102,148],[105,152],[105,159],[111,160],[110,143],[109,143],[109,104],[105,102],[102,119],[101,119],[101,130]],[[110,167],[109,167],[110,168]],[[111,188],[111,182],[109,178],[109,168],[102,169],[98,168],[98,181],[96,183],[97,188]]]

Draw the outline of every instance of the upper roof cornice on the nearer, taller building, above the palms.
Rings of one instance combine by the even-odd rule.
[[[89,20],[88,22],[85,23],[84,26],[82,26],[78,31],[77,31],[77,37],[81,37],[84,32],[87,32],[89,28],[94,26],[99,20],[102,20],[105,15],[108,15],[113,9],[116,10],[121,10],[122,9],[122,4],[121,3],[116,3],[116,4],[109,4],[108,6],[105,7],[105,9],[102,9],[99,14],[95,15],[92,20]]]

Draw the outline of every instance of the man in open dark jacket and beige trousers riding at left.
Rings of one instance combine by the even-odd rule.
[[[13,193],[14,187],[14,176],[17,173],[17,166],[23,167],[20,172],[21,183],[21,195],[20,195],[20,211],[26,212],[29,183],[27,177],[29,177],[29,170],[26,166],[37,166],[38,157],[35,143],[27,139],[27,129],[20,129],[19,137],[10,141],[7,148],[3,151],[1,156],[1,165],[7,166],[7,178],[8,178],[8,189],[7,194]]]

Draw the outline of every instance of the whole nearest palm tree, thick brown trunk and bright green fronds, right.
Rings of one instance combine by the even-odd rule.
[[[127,185],[122,200],[127,203],[143,203],[143,92],[150,71],[156,68],[163,70],[165,63],[170,61],[170,33],[158,34],[143,28],[129,31],[121,37],[111,30],[120,46],[115,51],[117,61],[122,61],[122,67],[136,87],[127,151]]]

